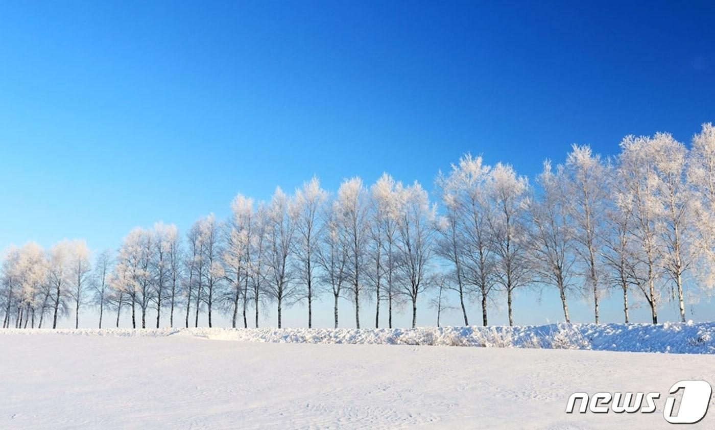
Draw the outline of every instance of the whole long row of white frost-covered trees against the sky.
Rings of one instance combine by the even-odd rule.
[[[414,182],[383,175],[370,187],[345,180],[335,195],[317,178],[292,195],[277,188],[268,202],[237,195],[230,219],[197,220],[182,239],[175,225],[132,230],[116,253],[90,265],[83,241],[63,241],[45,252],[28,243],[11,247],[2,265],[4,327],[42,326],[74,308],[97,306],[99,326],[111,311],[116,325],[131,313],[147,327],[147,311],[170,326],[209,327],[216,312],[232,326],[249,326],[254,313],[307,305],[332,297],[335,327],[340,299],[350,300],[355,326],[360,306],[374,303],[375,327],[387,308],[411,305],[432,290],[438,313],[453,296],[465,325],[478,303],[506,298],[510,325],[519,288],[553,288],[566,322],[568,298],[599,306],[611,290],[647,303],[657,323],[664,299],[686,303],[707,293],[715,276],[715,127],[704,124],[691,147],[669,134],[628,136],[613,159],[573,145],[566,162],[544,162],[536,187],[510,165],[485,165],[465,155],[435,181],[435,200]],[[693,270],[697,267],[698,270]],[[366,300],[365,298],[369,298]],[[180,318],[181,323],[174,321]]]

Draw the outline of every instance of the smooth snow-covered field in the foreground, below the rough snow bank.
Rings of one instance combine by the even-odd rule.
[[[0,336],[2,429],[653,429],[670,426],[674,382],[715,383],[702,354],[212,340],[281,338],[272,329],[19,332]],[[662,395],[655,414],[566,414],[576,391]],[[715,426],[710,412],[696,428]]]

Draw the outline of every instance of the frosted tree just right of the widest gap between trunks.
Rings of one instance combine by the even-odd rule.
[[[566,293],[572,287],[575,257],[572,212],[568,205],[564,175],[563,166],[559,165],[556,172],[553,172],[551,162],[547,160],[543,163],[543,172],[537,179],[542,192],[538,198],[531,200],[529,207],[533,223],[530,242],[533,257],[531,266],[543,284],[558,289],[563,318],[566,323],[570,323]]]

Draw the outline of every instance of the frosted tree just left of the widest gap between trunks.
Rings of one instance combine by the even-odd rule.
[[[489,174],[490,248],[495,256],[495,281],[506,291],[509,325],[513,326],[513,293],[532,280],[526,222],[529,182],[511,165],[497,163]]]

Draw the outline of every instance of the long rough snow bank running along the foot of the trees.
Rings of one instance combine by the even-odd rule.
[[[0,329],[0,334],[190,336],[221,341],[589,349],[715,354],[715,323],[418,328]]]

